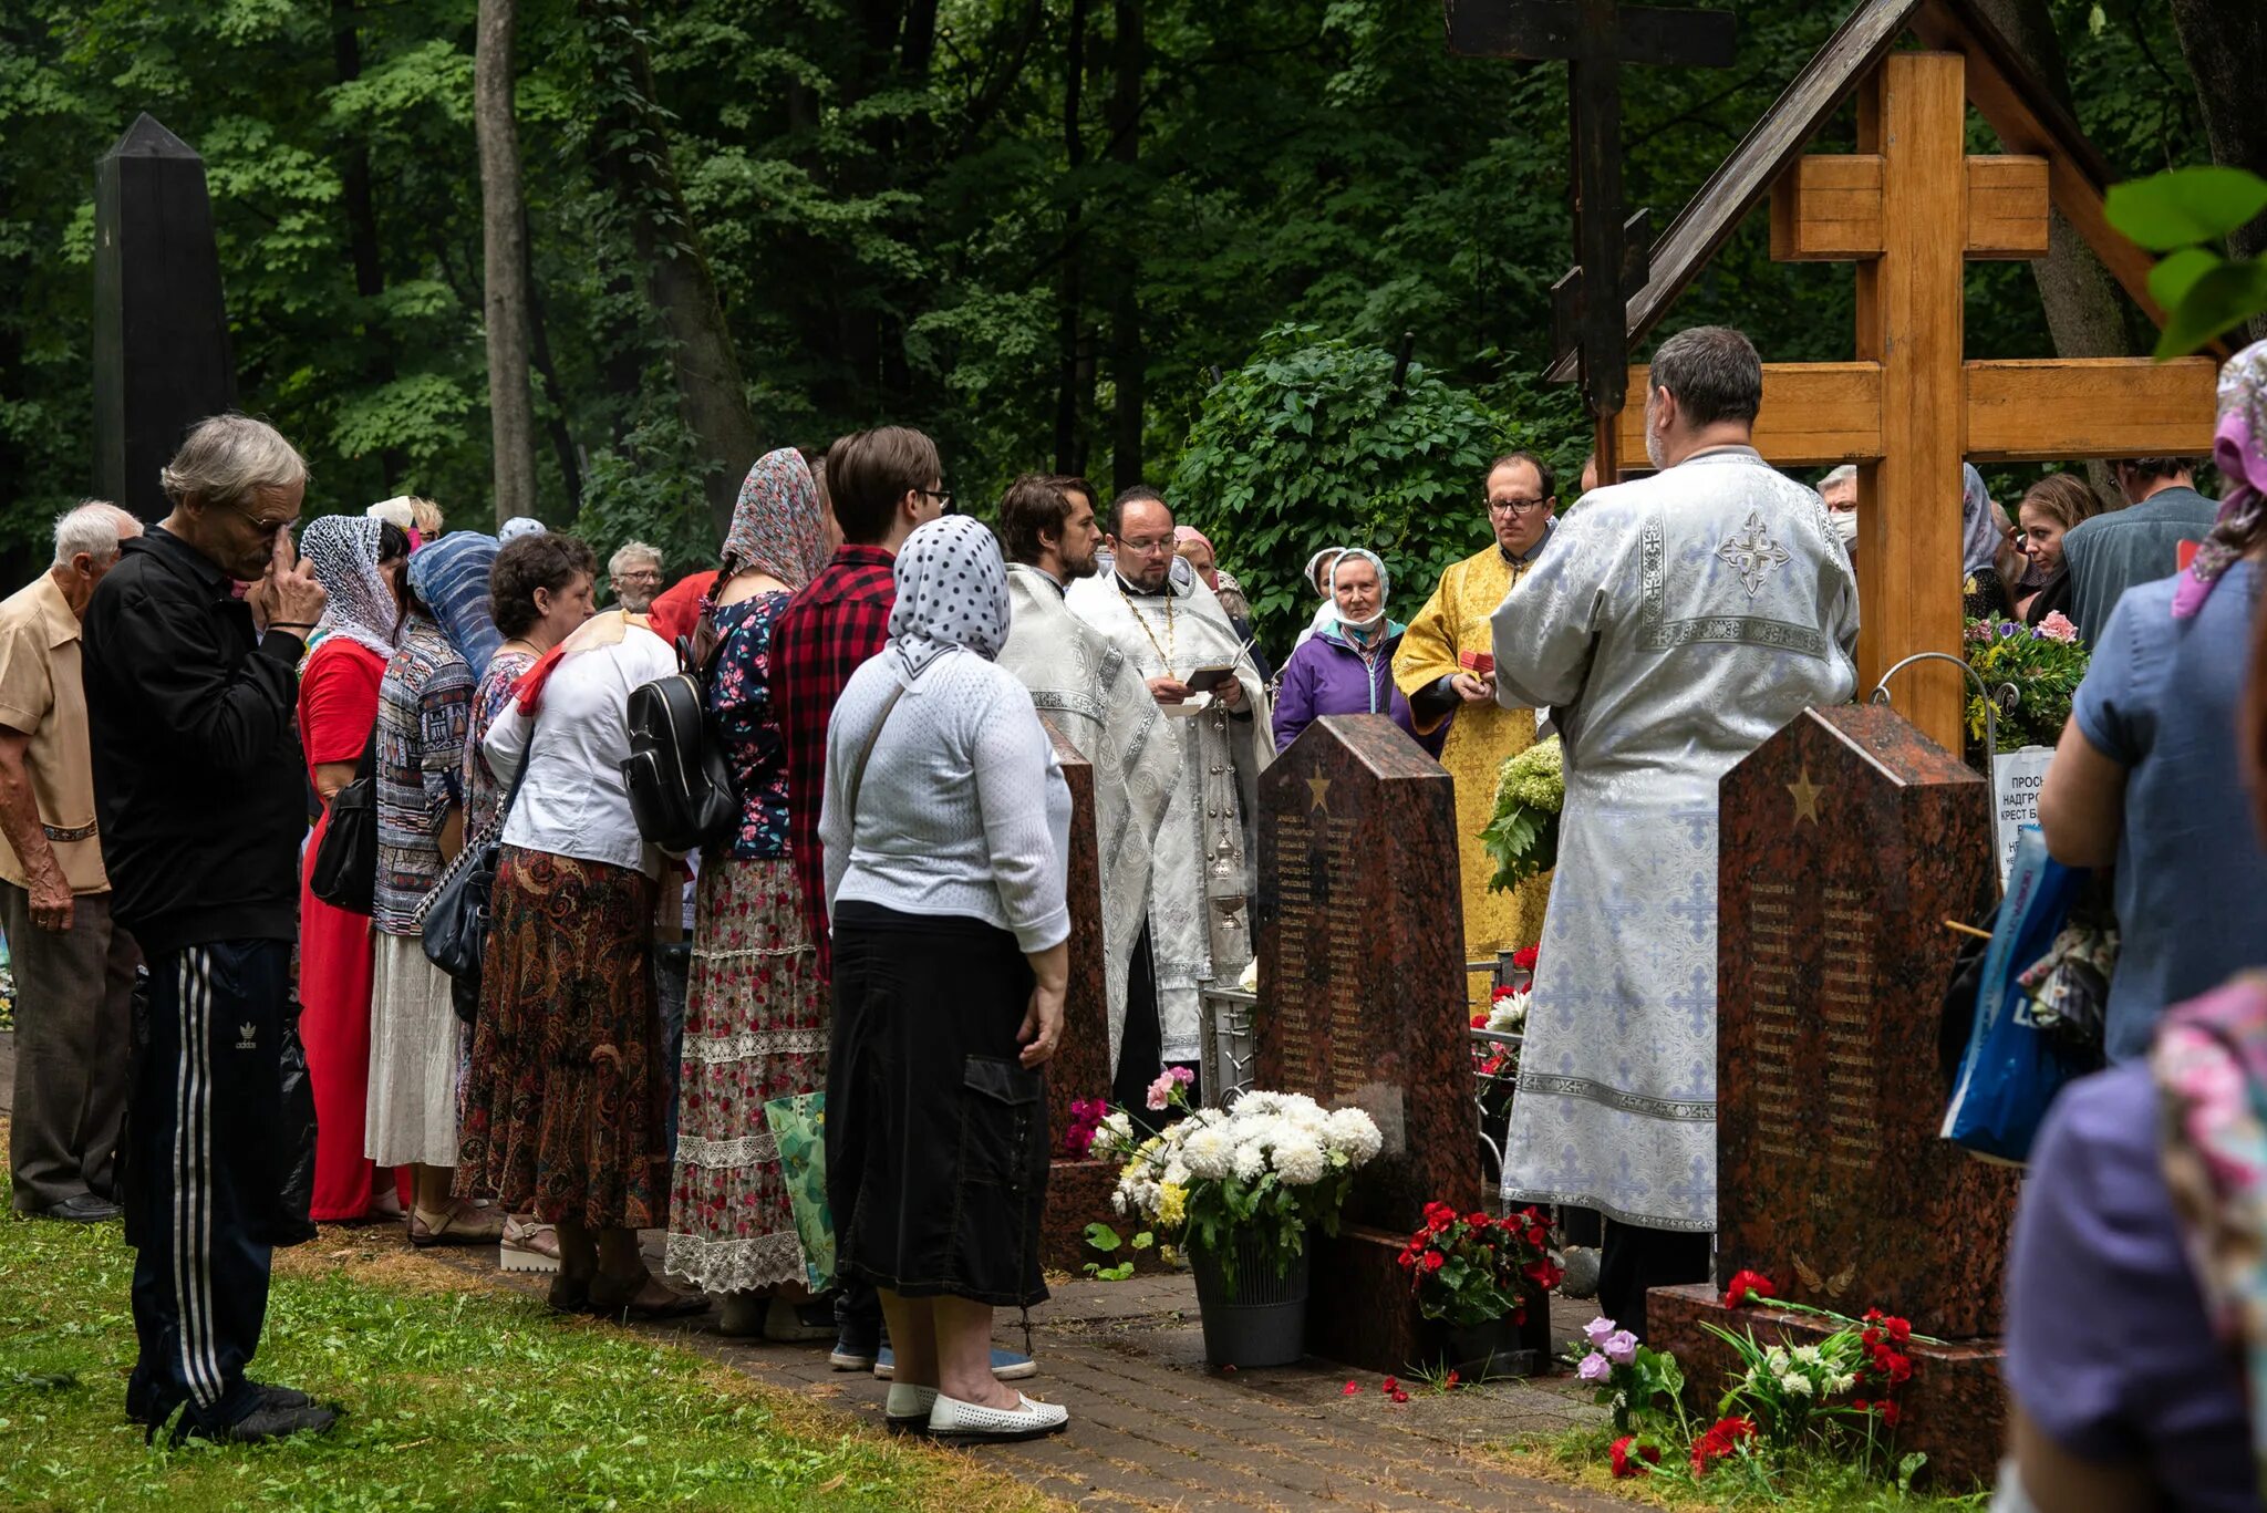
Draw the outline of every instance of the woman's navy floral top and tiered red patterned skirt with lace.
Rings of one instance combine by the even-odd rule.
[[[739,787],[728,855],[705,857],[685,996],[669,1273],[710,1293],[805,1282],[764,1102],[827,1084],[827,1016],[787,844],[787,749],[771,631],[789,594],[716,612],[710,712]]]

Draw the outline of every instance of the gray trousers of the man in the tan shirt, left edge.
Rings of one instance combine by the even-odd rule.
[[[32,923],[32,894],[0,882],[0,930],[16,971],[16,1211],[113,1198],[141,948],[111,923],[109,894],[75,898],[57,935]]]

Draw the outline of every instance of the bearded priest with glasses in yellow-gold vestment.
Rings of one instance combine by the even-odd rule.
[[[1535,710],[1496,705],[1494,628],[1489,617],[1512,583],[1551,542],[1557,508],[1551,465],[1530,451],[1501,456],[1487,470],[1487,524],[1494,540],[1455,563],[1410,622],[1394,656],[1394,683],[1410,701],[1417,730],[1430,735],[1453,719],[1440,764],[1455,778],[1455,851],[1464,882],[1464,960],[1535,946],[1544,935],[1551,873],[1505,894],[1487,891],[1496,867],[1480,844],[1494,819],[1496,769],[1535,744]]]

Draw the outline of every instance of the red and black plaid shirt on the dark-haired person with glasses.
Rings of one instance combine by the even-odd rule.
[[[827,948],[827,871],[818,851],[818,805],[827,792],[827,721],[850,674],[889,644],[898,603],[898,558],[843,542],[780,612],[771,631],[771,701],[787,739],[787,835],[803,889],[803,923],[818,946],[821,982],[834,975]]]

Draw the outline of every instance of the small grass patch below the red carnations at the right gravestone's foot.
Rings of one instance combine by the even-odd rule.
[[[1988,1490],[1900,1490],[1866,1477],[1857,1465],[1825,1454],[1798,1456],[1768,1470],[1761,1463],[1718,1468],[1698,1486],[1684,1479],[1632,1477],[1614,1481],[1607,1468],[1607,1427],[1562,1429],[1505,1445],[1496,1456],[1530,1477],[1571,1481],[1657,1508],[1784,1508],[1786,1513],[1984,1513]]]

